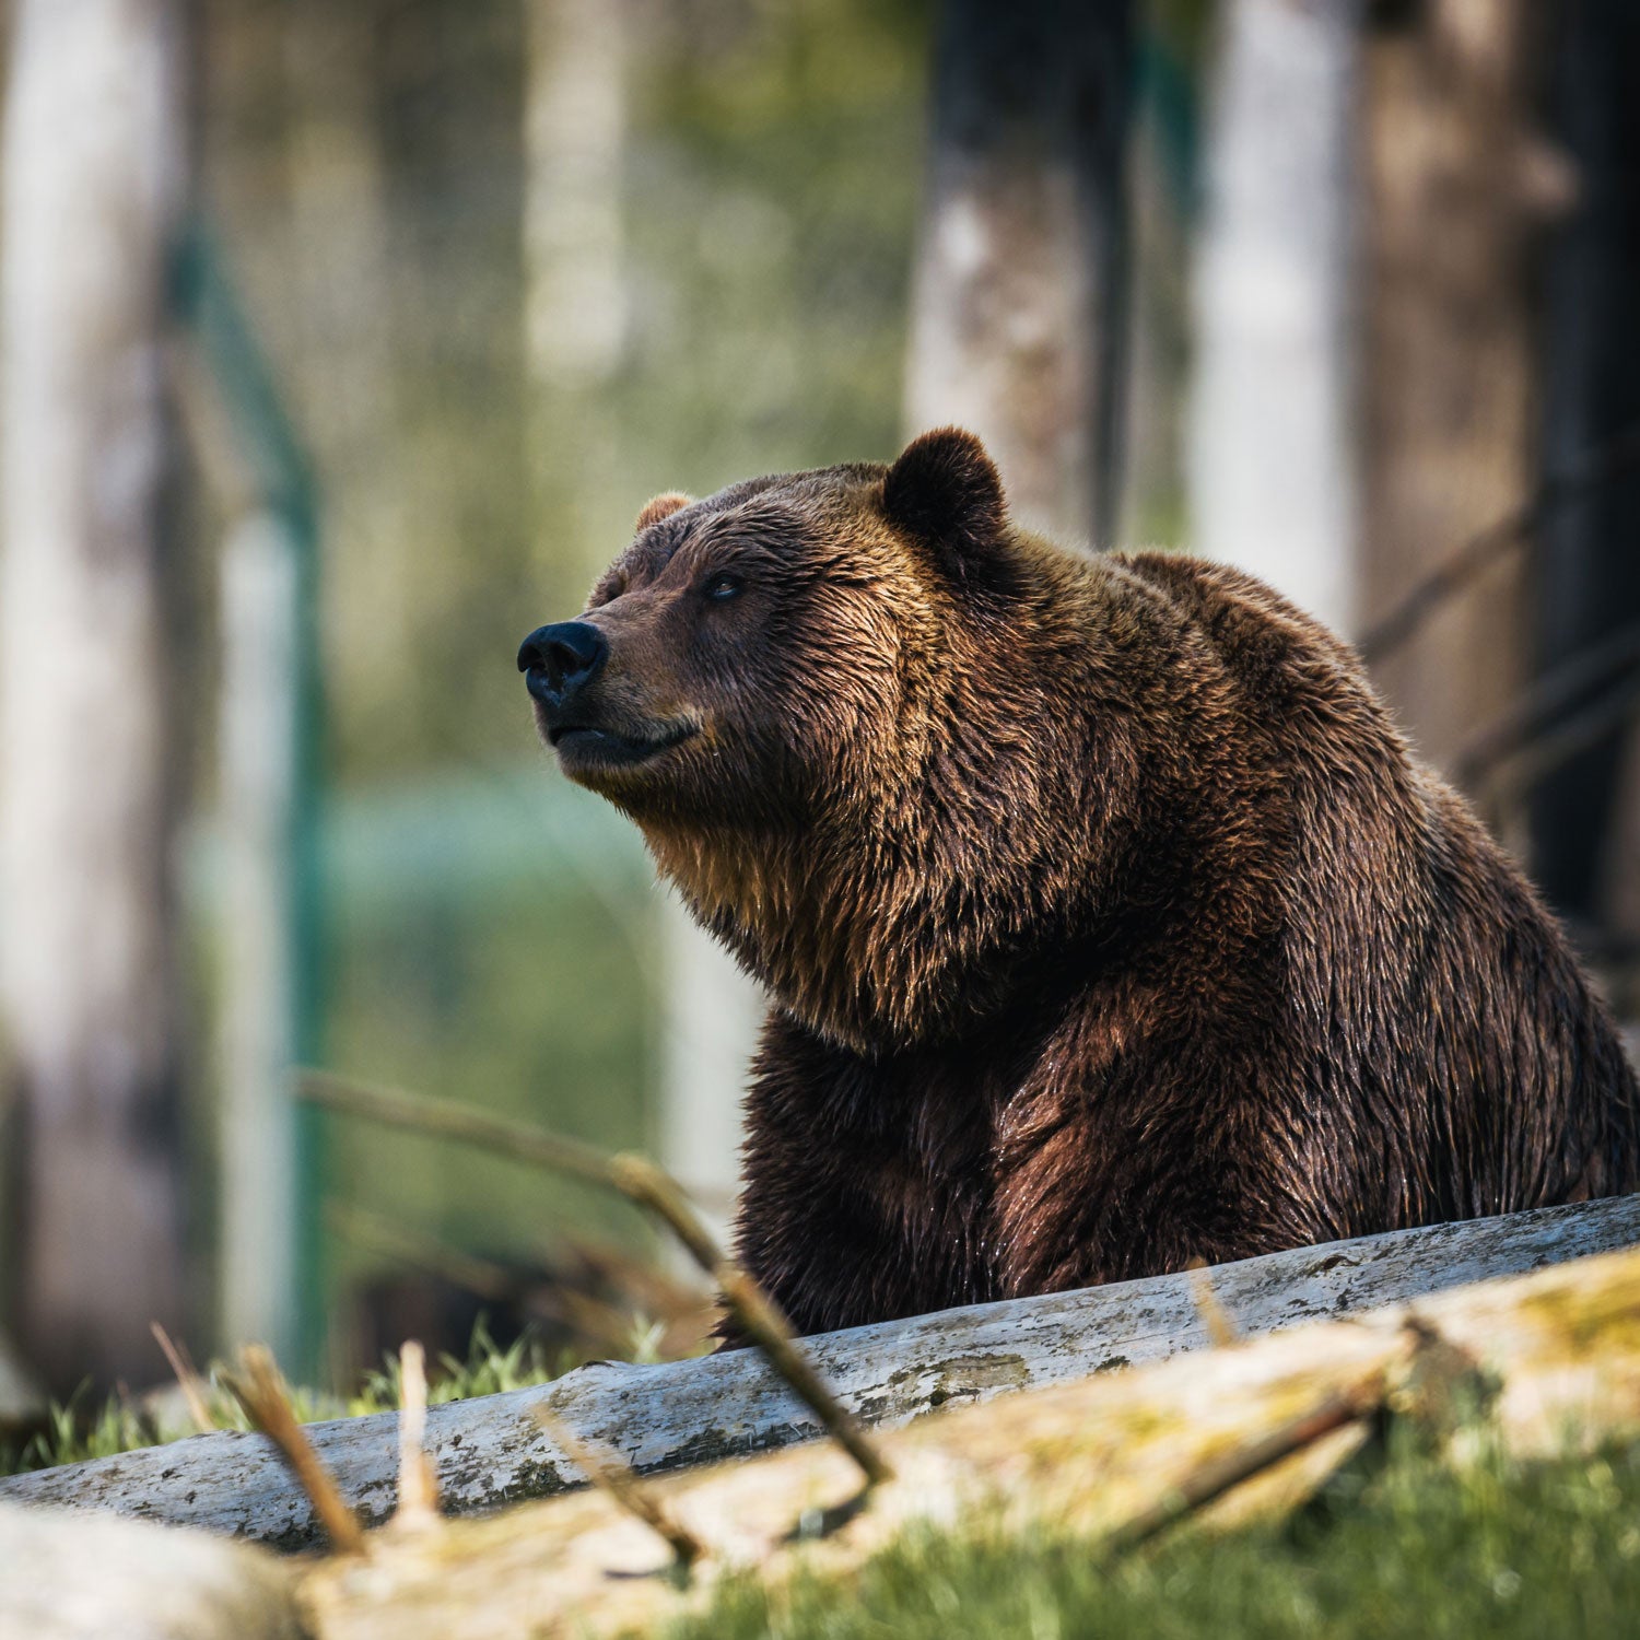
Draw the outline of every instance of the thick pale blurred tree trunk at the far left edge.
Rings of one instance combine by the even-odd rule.
[[[57,1391],[162,1373],[182,1212],[161,315],[174,0],[20,0],[5,125],[0,995],[18,1340]]]

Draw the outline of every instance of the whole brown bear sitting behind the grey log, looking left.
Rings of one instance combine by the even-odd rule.
[[[1027,535],[968,433],[656,499],[518,664],[769,991],[736,1240],[800,1332],[1640,1184],[1610,1020],[1351,649]]]

